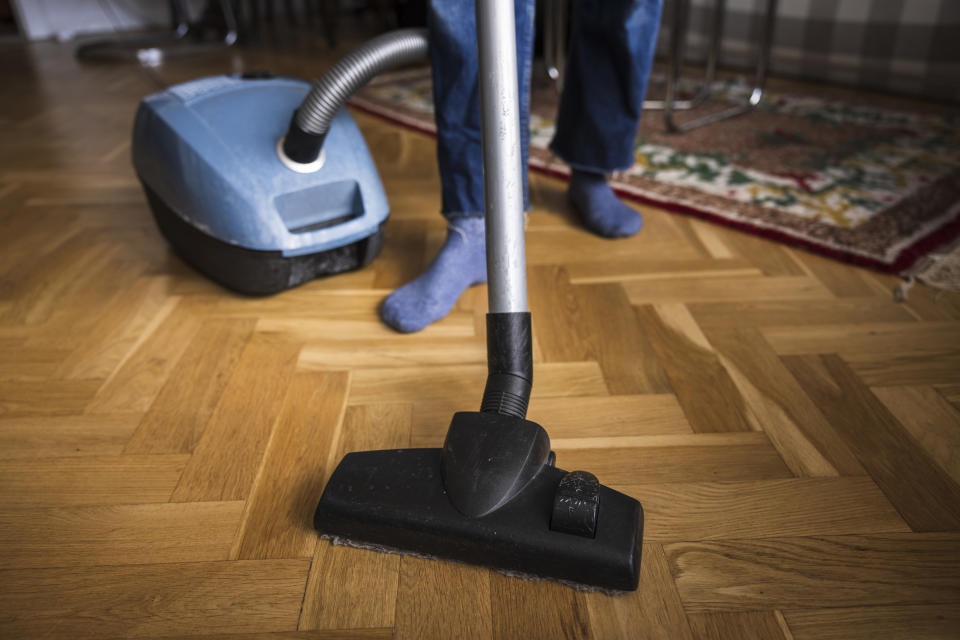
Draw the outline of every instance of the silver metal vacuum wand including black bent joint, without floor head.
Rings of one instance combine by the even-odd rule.
[[[533,384],[513,0],[476,0],[486,213],[487,385],[480,410],[524,418]]]

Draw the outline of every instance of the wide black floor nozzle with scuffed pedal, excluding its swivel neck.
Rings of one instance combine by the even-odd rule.
[[[643,510],[633,498],[590,474],[544,464],[509,502],[470,517],[447,497],[442,460],[441,449],[348,454],[327,483],[314,526],[354,543],[602,589],[637,588]]]

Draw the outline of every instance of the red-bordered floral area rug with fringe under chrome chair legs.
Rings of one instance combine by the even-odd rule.
[[[378,78],[351,105],[434,133],[426,69]],[[682,122],[749,89],[718,83]],[[568,169],[548,150],[557,95],[535,88],[532,170]],[[767,92],[749,114],[683,134],[644,114],[636,163],[613,176],[624,197],[696,215],[882,271],[906,273],[960,234],[960,110],[881,108]]]

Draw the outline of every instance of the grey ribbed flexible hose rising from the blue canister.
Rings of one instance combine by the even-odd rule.
[[[371,78],[426,56],[426,29],[398,29],[377,36],[320,78],[297,109],[297,126],[313,135],[325,135],[337,111]]]

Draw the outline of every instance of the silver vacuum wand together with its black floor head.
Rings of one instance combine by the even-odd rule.
[[[526,420],[533,382],[524,255],[513,0],[477,0],[489,313],[479,411],[454,414],[442,449],[346,455],[314,514],[347,544],[636,589],[643,510],[585,471],[555,466]]]

